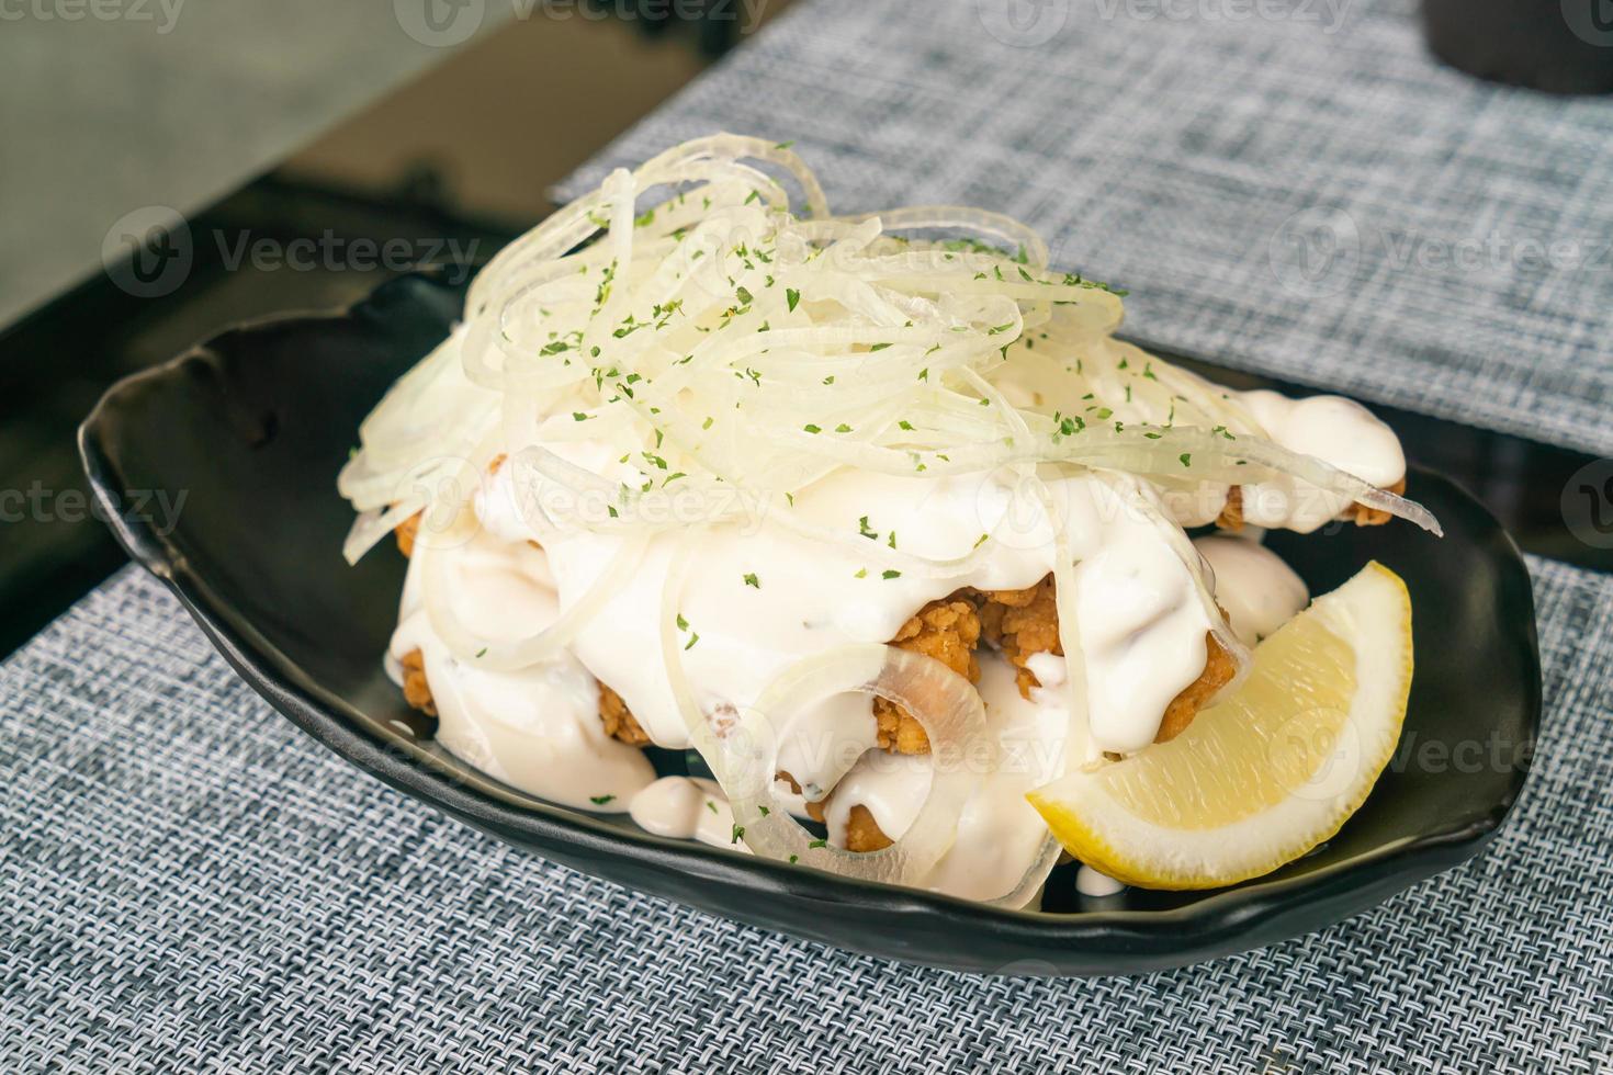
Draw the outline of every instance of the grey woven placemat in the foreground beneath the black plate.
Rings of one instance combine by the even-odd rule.
[[[769,935],[445,820],[129,569],[0,664],[0,1069],[1608,1070],[1613,579],[1532,571],[1545,737],[1487,854],[1265,951],[1045,982]]]

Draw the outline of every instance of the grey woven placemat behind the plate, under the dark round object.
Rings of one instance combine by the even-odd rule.
[[[1037,226],[1145,340],[1613,454],[1613,98],[1440,68],[1415,0],[808,0],[561,195],[724,129]]]

